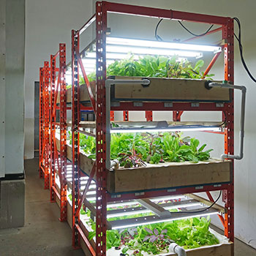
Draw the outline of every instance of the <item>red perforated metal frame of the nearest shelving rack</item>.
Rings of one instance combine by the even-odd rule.
[[[95,98],[96,109],[96,134],[97,134],[97,160],[96,160],[96,175],[97,175],[97,216],[96,216],[96,223],[97,223],[97,236],[96,236],[96,254],[95,255],[106,255],[106,221],[107,221],[107,202],[116,200],[115,197],[111,197],[110,194],[107,192],[106,184],[107,184],[107,170],[105,169],[105,159],[106,159],[106,148],[105,148],[105,131],[106,131],[106,124],[105,124],[105,80],[106,80],[106,31],[107,31],[107,15],[108,12],[115,12],[115,13],[122,13],[122,14],[132,14],[132,15],[141,15],[147,17],[154,17],[154,18],[167,18],[167,19],[176,19],[176,20],[187,20],[193,22],[200,22],[200,23],[214,23],[222,26],[222,39],[225,40],[225,80],[230,81],[233,83],[233,20],[231,18],[223,18],[211,15],[200,15],[200,14],[193,14],[189,12],[176,12],[172,10],[160,10],[157,8],[149,8],[149,7],[135,7],[127,4],[114,4],[109,2],[97,2],[96,5],[96,16],[93,16],[89,22],[87,22],[80,30],[72,32],[72,64],[76,70],[78,70],[78,60],[80,59],[78,54],[79,53],[79,34],[83,31],[89,23],[92,22],[96,18],[96,45],[97,45],[97,95]],[[219,29],[218,29],[219,30]],[[219,56],[219,55],[218,55]],[[214,56],[214,60],[211,61],[211,64],[206,72],[211,68],[214,64],[217,56]],[[73,69],[75,71],[75,69]],[[83,70],[82,70],[83,71]],[[83,76],[86,80],[86,74],[83,72]],[[75,90],[78,90],[78,72],[73,72],[73,93]],[[89,87],[89,83],[87,83]],[[73,99],[73,104],[78,104],[78,94],[73,94],[75,96],[75,100]],[[91,102],[94,102],[94,98],[91,97]],[[73,111],[75,107],[73,107]],[[111,110],[147,110],[146,111],[146,119],[151,120],[151,111],[152,110],[167,110],[164,107],[162,102],[156,103],[148,103],[144,104],[143,107],[135,107],[132,103],[121,103],[119,107],[111,108]],[[169,108],[168,110],[175,111],[174,120],[178,121],[181,118],[182,112],[184,110],[222,110],[227,112],[227,131],[225,132],[225,153],[233,154],[233,98],[232,102],[225,103],[222,108],[217,107],[214,103],[205,103],[200,104],[200,106],[195,109],[192,108],[189,103],[173,103],[173,107]],[[79,113],[79,111],[77,112]],[[73,129],[78,129],[79,126],[79,116],[76,113],[73,113],[74,122],[77,127],[73,127]],[[73,151],[78,156],[78,132],[75,133],[74,136],[76,139],[73,140]],[[98,143],[102,142],[102,143]],[[73,153],[73,157],[75,157]],[[73,162],[75,168],[75,178],[78,178],[77,184],[73,187],[73,196],[76,197],[76,200],[73,201],[77,206],[73,206],[73,209],[78,209],[78,202],[79,202],[79,161]],[[232,179],[233,180],[233,179]],[[75,181],[75,180],[74,180]],[[212,200],[211,194],[209,191],[223,189],[223,201],[225,202],[225,207],[228,209],[227,214],[225,214],[225,236],[230,238],[230,241],[233,241],[234,233],[233,233],[233,183],[232,184],[223,184],[221,187],[214,187],[214,186],[205,186],[203,188],[198,189],[197,187],[190,187],[190,188],[182,188],[182,189],[175,189],[175,192],[167,192],[165,191],[155,191],[155,192],[144,192],[143,195],[135,196],[133,193],[127,193],[124,195],[119,195],[118,200],[124,199],[135,199],[138,197],[156,197],[157,195],[171,195],[171,194],[180,194],[180,193],[187,193],[187,192],[208,192],[209,197]],[[74,214],[74,211],[73,211]],[[73,245],[79,246],[79,237],[80,233],[82,232],[79,228],[79,219],[74,219],[73,224]],[[85,236],[82,236],[84,239]],[[87,244],[87,243],[86,243]]]

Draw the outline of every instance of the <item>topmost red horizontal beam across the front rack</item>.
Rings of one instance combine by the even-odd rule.
[[[229,18],[215,16],[215,15],[203,15],[192,12],[179,12],[174,10],[165,10],[152,7],[140,7],[130,4],[116,4],[108,1],[102,1],[102,7],[105,7],[107,12],[116,12],[121,14],[146,16],[151,18],[164,18],[172,20],[184,20],[200,23],[211,23],[218,25],[226,25]]]

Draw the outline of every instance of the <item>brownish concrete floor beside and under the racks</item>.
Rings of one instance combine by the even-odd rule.
[[[72,249],[71,229],[67,223],[59,222],[59,207],[50,203],[49,191],[43,189],[43,181],[38,175],[38,160],[26,160],[25,170],[25,226],[0,230],[0,255],[83,255],[81,249]],[[236,239],[235,256],[244,255],[255,256],[256,250]]]

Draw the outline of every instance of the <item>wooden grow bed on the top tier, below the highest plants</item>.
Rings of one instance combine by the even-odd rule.
[[[112,79],[138,80],[140,77],[113,76]],[[221,88],[205,88],[206,80],[181,78],[147,78],[149,86],[120,84],[111,86],[111,101],[170,101],[170,102],[230,102],[230,91]],[[90,83],[95,95],[96,83]],[[89,102],[86,85],[80,86],[80,102]],[[67,102],[71,102],[71,89],[67,89]],[[57,98],[59,103],[59,94]]]

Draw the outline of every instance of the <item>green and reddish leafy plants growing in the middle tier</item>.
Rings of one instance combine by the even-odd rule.
[[[159,162],[199,162],[210,158],[212,149],[203,151],[195,138],[181,133],[120,133],[111,135],[110,159],[121,167],[140,167]],[[95,138],[80,134],[80,147],[91,158],[96,158]]]

